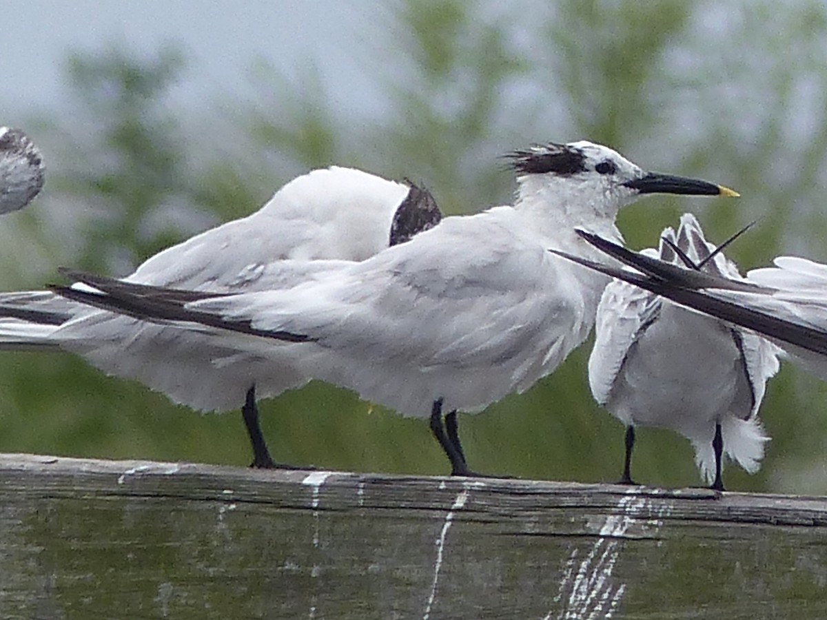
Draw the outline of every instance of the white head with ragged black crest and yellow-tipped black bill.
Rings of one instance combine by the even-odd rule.
[[[510,155],[519,183],[515,207],[548,209],[573,219],[610,218],[646,193],[737,196],[731,189],[641,169],[608,146],[548,143]]]

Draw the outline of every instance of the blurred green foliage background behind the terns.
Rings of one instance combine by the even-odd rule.
[[[174,41],[151,60],[128,46],[72,55],[74,109],[42,110],[26,125],[50,168],[37,203],[4,218],[0,284],[41,288],[59,279],[59,265],[126,274],[175,241],[251,212],[295,175],[332,164],[422,180],[446,212],[475,212],[508,202],[514,190],[498,155],[581,138],[743,195],[629,207],[619,226],[630,246],[653,246],[692,210],[718,241],[758,219],[729,251],[743,269],[782,253],[827,260],[820,2],[782,10],[776,2],[547,5],[394,2],[376,17],[380,43],[348,50],[380,84],[378,117],[341,112],[310,61],[288,76],[251,59],[254,98],[217,92],[195,114],[169,103],[190,67]],[[617,479],[623,429],[590,396],[588,352],[581,347],[528,393],[461,417],[471,466]],[[827,492],[825,390],[785,366],[762,409],[773,438],[762,470],[729,468],[729,488]],[[447,471],[425,422],[341,389],[311,384],[261,410],[277,460]],[[238,413],[201,415],[71,355],[19,352],[0,354],[0,451],[250,460]],[[670,432],[638,432],[634,471],[648,484],[699,483],[690,446]]]

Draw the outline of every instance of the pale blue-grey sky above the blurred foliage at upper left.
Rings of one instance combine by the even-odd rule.
[[[381,25],[390,21],[388,5],[374,0],[5,0],[0,124],[19,124],[33,108],[60,107],[67,94],[67,51],[112,44],[147,55],[167,42],[182,45],[189,71],[172,96],[185,107],[249,88],[248,69],[256,58],[289,75],[313,64],[332,98],[356,107],[370,88],[361,76],[376,73],[360,71],[360,64],[380,62],[370,49]],[[339,52],[353,50],[355,41],[364,52],[359,57]]]

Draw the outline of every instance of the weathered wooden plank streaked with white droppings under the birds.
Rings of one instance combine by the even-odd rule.
[[[825,618],[827,500],[0,455],[2,618]]]

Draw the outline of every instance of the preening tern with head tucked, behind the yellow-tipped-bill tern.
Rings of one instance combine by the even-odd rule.
[[[214,293],[278,289],[336,262],[325,259],[363,260],[408,241],[440,217],[432,196],[414,184],[356,169],[314,170],[284,185],[252,215],[152,256],[127,280]],[[261,435],[256,395],[273,396],[308,381],[275,350],[266,358],[246,355],[210,336],[90,311],[50,291],[0,295],[0,349],[74,351],[175,403],[204,411],[243,405],[252,465],[258,467],[275,463]],[[226,362],[213,362],[218,359]]]

